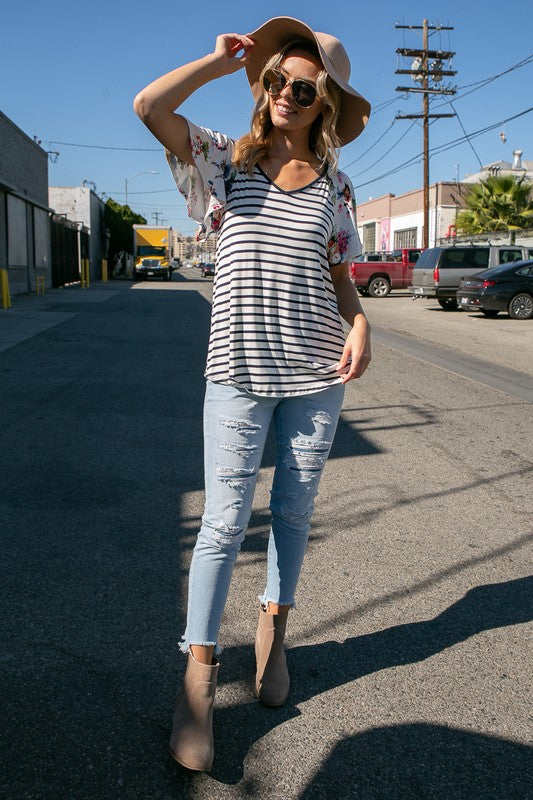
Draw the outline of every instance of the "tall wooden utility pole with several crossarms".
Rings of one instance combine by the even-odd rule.
[[[404,58],[413,58],[411,69],[397,69],[396,75],[411,75],[416,83],[421,87],[397,86],[397,92],[418,92],[422,93],[422,114],[397,114],[396,119],[422,119],[424,130],[424,230],[423,246],[429,247],[429,120],[441,117],[454,117],[455,114],[430,114],[429,95],[430,94],[455,94],[456,89],[447,87],[438,89],[430,86],[432,83],[439,83],[443,75],[455,75],[455,70],[443,69],[443,61],[450,60],[455,53],[445,50],[429,50],[428,39],[429,31],[453,31],[453,28],[442,25],[429,25],[427,19],[423,20],[422,25],[396,25],[396,28],[407,30],[422,31],[422,49],[412,50],[400,47],[396,50],[398,55]],[[436,234],[436,231],[435,231]]]

